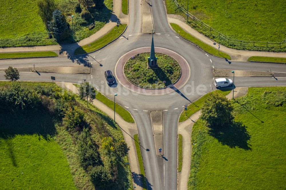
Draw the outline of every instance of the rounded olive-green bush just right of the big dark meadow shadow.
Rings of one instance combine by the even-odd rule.
[[[63,118],[64,125],[74,131],[81,131],[84,127],[84,112],[78,107],[69,108]]]

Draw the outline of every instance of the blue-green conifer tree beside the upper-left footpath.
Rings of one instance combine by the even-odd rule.
[[[68,26],[61,11],[55,9],[51,21],[48,21],[48,30],[55,37],[55,39],[63,39],[63,34],[67,32]]]

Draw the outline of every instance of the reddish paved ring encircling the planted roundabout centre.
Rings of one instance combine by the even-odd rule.
[[[182,86],[184,86],[186,84],[186,82],[188,81],[188,79],[190,78],[190,67],[189,67],[187,61],[182,56],[180,56],[179,54],[177,54],[171,50],[168,50],[165,48],[159,48],[159,47],[155,47],[155,52],[163,53],[163,54],[166,54],[168,56],[171,56],[172,58],[174,58],[179,63],[180,67],[182,68],[182,73],[181,73],[179,80],[174,85],[170,85],[171,88],[167,87],[164,89],[146,89],[146,88],[138,87],[126,79],[126,77],[124,75],[125,63],[132,56],[137,55],[139,53],[149,52],[149,51],[150,51],[150,47],[143,47],[143,48],[134,49],[134,50],[124,54],[123,56],[121,56],[115,65],[115,77],[117,78],[118,82],[122,86],[124,86],[125,88],[128,88],[129,90],[132,90],[133,92],[137,92],[140,94],[146,94],[146,95],[167,94],[167,93],[174,92],[174,90],[176,90],[176,89],[182,88]],[[147,66],[147,61],[146,61],[146,66]]]

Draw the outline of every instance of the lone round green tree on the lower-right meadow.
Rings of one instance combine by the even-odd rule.
[[[232,111],[233,106],[227,98],[222,94],[213,92],[210,93],[202,106],[201,118],[206,120],[210,126],[223,126],[233,119]]]

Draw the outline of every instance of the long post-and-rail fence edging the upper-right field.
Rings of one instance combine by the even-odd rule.
[[[207,25],[206,23],[200,21],[194,15],[187,12],[182,6],[179,5],[177,0],[173,0],[173,1],[178,6],[178,9],[180,9],[182,12],[184,12],[187,17],[191,18],[194,22],[196,22],[198,24],[198,26],[202,27],[206,31],[209,31],[210,33],[216,34],[219,38],[227,41],[227,43],[236,43],[236,44],[240,44],[240,45],[245,44],[245,45],[253,45],[253,46],[260,45],[260,46],[266,46],[266,47],[272,46],[272,47],[279,47],[279,48],[283,48],[283,46],[286,45],[286,41],[283,41],[283,42],[260,42],[260,41],[245,41],[245,40],[230,39],[230,38],[226,37],[225,35],[223,35],[222,33],[220,33],[219,31],[217,31],[216,29],[214,29],[211,26]]]

